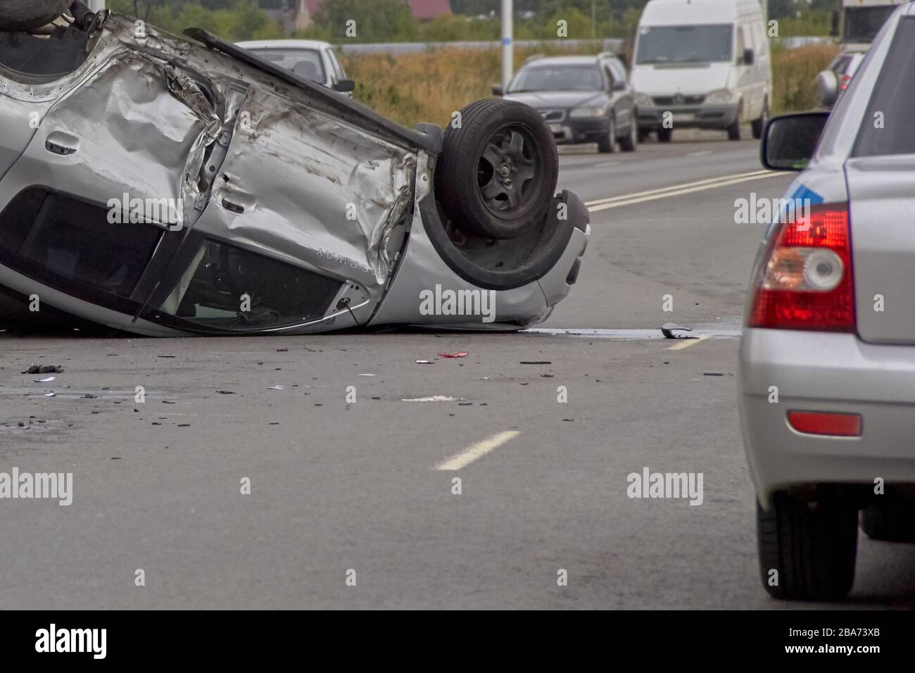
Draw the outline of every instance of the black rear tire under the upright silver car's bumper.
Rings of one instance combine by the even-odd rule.
[[[762,585],[775,598],[830,601],[855,582],[857,507],[837,501],[809,503],[776,494],[772,508],[757,503]],[[770,583],[778,570],[778,583]]]

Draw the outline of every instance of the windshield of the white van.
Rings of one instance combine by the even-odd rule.
[[[643,26],[636,63],[709,63],[731,60],[733,27]]]

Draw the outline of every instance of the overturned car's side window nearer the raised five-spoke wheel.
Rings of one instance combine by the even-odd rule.
[[[159,307],[226,330],[263,330],[323,318],[342,284],[234,245],[205,241]]]

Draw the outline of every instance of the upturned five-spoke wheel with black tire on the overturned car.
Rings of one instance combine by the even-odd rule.
[[[470,103],[459,118],[460,128],[447,126],[436,167],[436,197],[451,222],[496,239],[543,223],[559,179],[559,153],[544,118],[502,99]]]

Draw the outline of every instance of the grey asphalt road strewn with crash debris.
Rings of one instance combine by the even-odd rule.
[[[644,338],[737,329],[762,231],[734,201],[791,180],[735,183],[757,153],[712,135],[564,154],[563,186],[620,199],[595,205],[578,285],[543,327],[607,332],[0,335],[0,471],[74,474],[70,506],[0,502],[0,607],[806,607],[759,585],[737,339]],[[30,362],[65,371],[36,384]],[[404,401],[426,396],[460,401]],[[702,505],[630,499],[644,468],[702,472]],[[841,604],[915,605],[913,563],[862,537]]]

